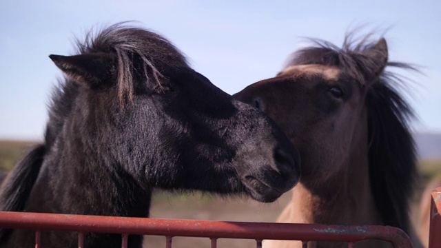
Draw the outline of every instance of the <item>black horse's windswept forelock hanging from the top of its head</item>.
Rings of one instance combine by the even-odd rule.
[[[168,73],[189,68],[183,52],[170,41],[150,30],[116,23],[101,30],[90,30],[84,41],[76,39],[77,52],[108,52],[116,55],[116,84],[123,103],[134,96],[134,79],[143,76],[146,83],[167,80]]]

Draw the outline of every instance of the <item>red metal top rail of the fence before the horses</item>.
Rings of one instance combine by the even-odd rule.
[[[412,247],[409,237],[401,229],[375,225],[245,223],[0,211],[0,228],[257,240],[356,242],[378,239],[393,242],[396,247]]]

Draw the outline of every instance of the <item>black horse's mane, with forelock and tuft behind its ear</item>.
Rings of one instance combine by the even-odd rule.
[[[170,74],[181,68],[189,68],[183,52],[170,41],[149,30],[126,24],[116,23],[107,28],[92,29],[83,40],[75,39],[75,55],[92,52],[116,54],[116,85],[123,103],[133,98],[136,74],[142,74],[146,83],[155,83],[161,87],[161,81],[167,80]],[[79,84],[68,77],[60,79],[52,90],[50,118],[45,131],[48,147],[52,146],[61,131],[78,92]]]

